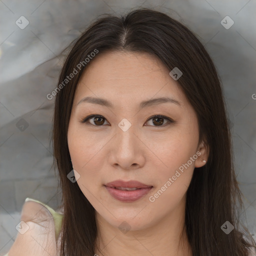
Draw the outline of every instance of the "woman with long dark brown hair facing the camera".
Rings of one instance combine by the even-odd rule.
[[[256,254],[220,81],[187,27],[150,9],[96,20],[54,95],[64,215],[40,255]]]

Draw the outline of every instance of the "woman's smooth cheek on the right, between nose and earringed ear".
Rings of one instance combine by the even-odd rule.
[[[197,158],[197,136],[193,132],[192,128],[191,131],[179,129],[161,139],[158,137],[157,143],[151,141],[154,152],[152,170],[156,171],[152,172],[152,176],[157,190],[160,189],[159,194],[162,193],[159,201],[167,203],[169,198],[179,200],[189,186]]]

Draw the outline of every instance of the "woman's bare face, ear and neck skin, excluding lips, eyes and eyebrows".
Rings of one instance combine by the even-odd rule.
[[[198,141],[198,122],[184,93],[156,57],[146,53],[110,51],[94,57],[81,76],[74,95],[68,126],[68,148],[77,183],[96,212],[96,244],[104,255],[192,255],[184,227],[186,191],[194,167],[207,161],[207,148]],[[113,107],[77,103],[85,96],[109,100]],[[139,103],[170,96],[180,102],[139,109]],[[102,115],[103,125],[90,114]],[[165,115],[175,121],[164,126],[149,119]],[[127,131],[118,123],[126,118]],[[93,126],[94,125],[94,126]],[[175,174],[179,166],[200,151],[184,172],[155,199],[149,196]],[[103,184],[123,179],[152,185],[151,191],[133,202],[114,199]],[[129,229],[118,226],[126,221]],[[180,241],[180,244],[179,244]],[[178,246],[179,245],[179,246]],[[98,255],[102,255],[96,249]]]

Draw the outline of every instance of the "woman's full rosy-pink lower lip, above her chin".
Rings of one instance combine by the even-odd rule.
[[[105,186],[105,188],[115,199],[123,202],[132,202],[147,194],[152,187],[150,186],[136,190],[120,190],[109,186]]]

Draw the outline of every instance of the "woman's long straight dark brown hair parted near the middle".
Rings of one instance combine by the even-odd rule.
[[[202,43],[186,26],[148,8],[98,18],[70,45],[63,64],[58,79],[62,86],[55,93],[52,134],[54,169],[57,167],[60,176],[64,211],[60,255],[95,253],[95,210],[77,182],[67,178],[72,170],[67,129],[74,92],[93,58],[88,63],[84,60],[95,49],[97,55],[107,50],[146,52],[156,55],[169,70],[182,69],[179,86],[197,114],[199,141],[203,138],[209,147],[207,163],[194,170],[186,195],[185,231],[193,256],[247,256],[251,245],[245,236],[254,246],[255,242],[239,220],[243,203],[220,79]],[[77,73],[73,78],[65,80],[74,69]],[[226,221],[234,226],[228,234],[221,230]]]

